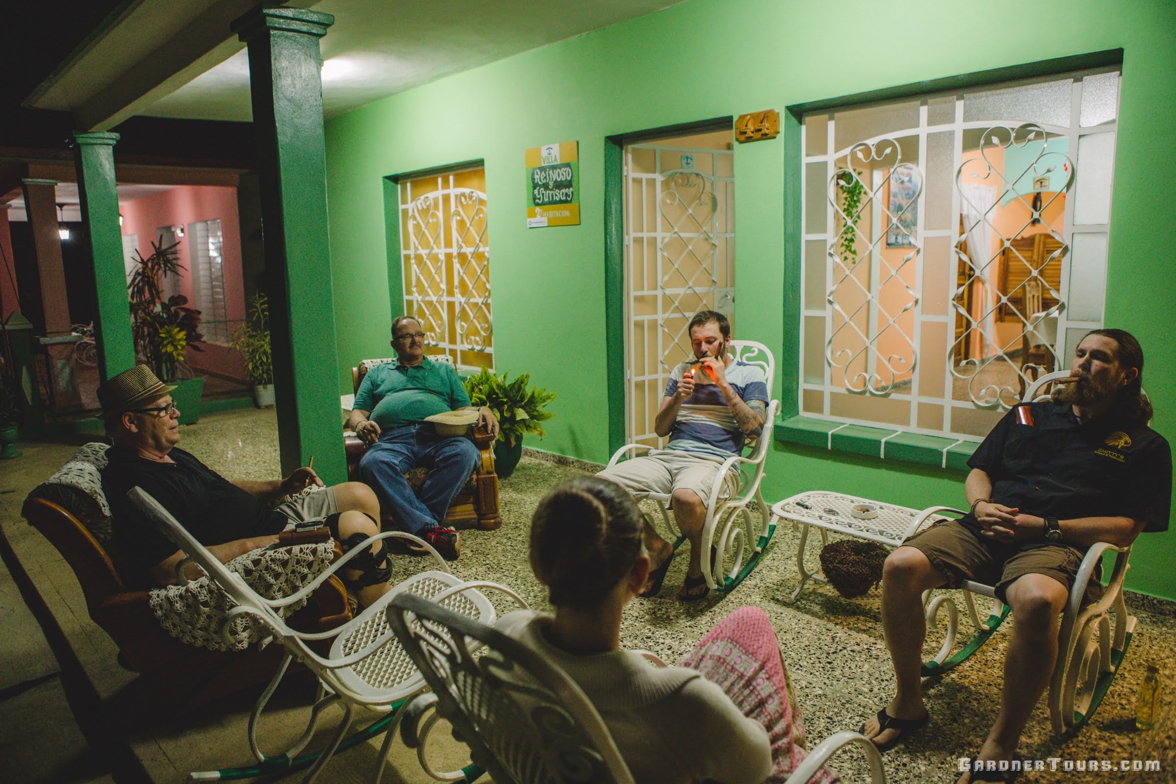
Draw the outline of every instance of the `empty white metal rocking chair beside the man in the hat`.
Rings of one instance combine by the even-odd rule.
[[[505,585],[489,582],[463,582],[449,572],[445,559],[425,541],[402,531],[386,531],[369,537],[368,543],[383,538],[405,538],[428,550],[440,570],[434,569],[414,575],[380,597],[355,618],[345,625],[322,632],[300,632],[290,629],[276,611],[279,608],[299,602],[309,596],[330,575],[346,567],[347,562],[363,551],[363,548],[352,548],[329,569],[308,583],[302,590],[281,599],[267,599],[250,589],[240,575],[225,568],[192,534],[187,531],[167,509],[141,488],[133,488],[127,497],[147,515],[168,540],[185,552],[176,564],[175,571],[181,582],[187,563],[198,565],[236,607],[225,614],[222,634],[227,634],[235,618],[241,616],[262,624],[272,639],[286,649],[286,656],[274,674],[269,685],[262,692],[249,716],[249,749],[258,764],[250,768],[221,769],[189,773],[191,782],[212,782],[222,778],[241,778],[261,776],[273,772],[289,772],[309,765],[303,782],[312,782],[330,759],[335,751],[346,749],[380,732],[386,732],[383,746],[376,759],[373,782],[379,783],[383,773],[385,760],[390,748],[392,737],[402,713],[399,708],[412,696],[426,689],[425,679],[413,665],[412,659],[395,641],[385,619],[385,607],[397,594],[413,594],[437,602],[453,611],[465,614],[486,623],[494,623],[496,614],[494,605],[477,589],[493,588],[513,598],[520,607],[527,603]],[[334,638],[328,656],[320,656],[307,643]],[[261,644],[268,644],[265,641]],[[266,703],[273,696],[281,682],[290,661],[298,659],[319,678],[319,693],[310,710],[310,719],[298,742],[280,755],[266,755],[258,745],[258,721]],[[341,703],[343,718],[339,723],[327,746],[320,752],[301,755],[310,742],[318,724],[319,715],[329,705]],[[367,728],[346,738],[353,721],[353,710],[362,705],[383,717]],[[301,755],[301,756],[300,756]],[[432,770],[429,771],[432,773]],[[460,778],[461,773],[448,775],[448,779]]]

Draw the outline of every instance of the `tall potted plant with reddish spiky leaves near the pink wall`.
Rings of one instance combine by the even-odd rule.
[[[203,335],[199,330],[200,311],[187,307],[188,297],[175,294],[163,299],[163,281],[179,277],[183,269],[179,246],[179,242],[165,247],[152,242],[152,254],[146,259],[135,250],[127,292],[135,356],[149,364],[160,381],[176,387],[172,400],[180,409],[180,423],[191,424],[200,418],[205,380],[192,377],[183,357],[188,348],[203,350],[198,346]]]

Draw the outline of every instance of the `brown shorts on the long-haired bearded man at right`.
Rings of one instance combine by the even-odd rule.
[[[935,523],[903,545],[926,555],[935,570],[947,578],[948,588],[958,588],[962,581],[970,579],[991,585],[1002,602],[1009,585],[1024,575],[1045,575],[1070,590],[1083,556],[1081,550],[1065,544],[1018,550],[1001,542],[987,542],[954,520]],[[1101,592],[1097,583],[1097,579],[1090,581],[1088,599],[1093,591]]]

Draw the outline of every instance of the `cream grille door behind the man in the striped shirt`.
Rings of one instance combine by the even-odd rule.
[[[624,148],[626,441],[654,433],[669,373],[691,356],[699,310],[735,310],[731,132]]]

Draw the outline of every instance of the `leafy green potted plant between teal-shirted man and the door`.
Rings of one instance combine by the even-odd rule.
[[[509,374],[502,377],[482,368],[477,375],[466,378],[466,394],[474,406],[485,406],[499,420],[499,438],[494,444],[494,465],[500,478],[510,476],[522,456],[522,436],[533,433],[542,438],[547,435],[540,424],[553,416],[544,411],[555,400],[555,393],[532,387],[527,389],[530,374],[524,373],[514,381]]]

